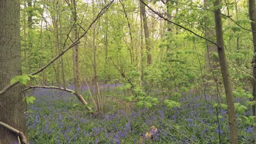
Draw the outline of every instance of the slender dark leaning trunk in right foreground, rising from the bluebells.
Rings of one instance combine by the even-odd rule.
[[[254,0],[253,0],[254,1]],[[216,0],[214,6],[219,5],[220,1]],[[215,10],[215,26],[216,26],[216,38],[218,44],[218,55],[219,55],[219,64],[220,69],[222,70],[223,84],[226,94],[226,103],[228,105],[228,121],[230,127],[230,143],[238,143],[237,139],[237,128],[236,128],[236,113],[234,100],[232,95],[232,86],[229,78],[228,64],[226,63],[225,49],[224,49],[224,40],[223,40],[223,28],[222,28],[222,17],[220,9]]]

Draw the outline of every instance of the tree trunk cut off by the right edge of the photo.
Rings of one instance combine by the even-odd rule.
[[[251,22],[253,34],[253,78],[252,78],[252,88],[253,88],[253,100],[256,101],[256,8],[255,8],[255,0],[249,0],[249,17]],[[256,116],[256,104],[253,105],[253,116]],[[256,143],[256,130],[254,143]]]

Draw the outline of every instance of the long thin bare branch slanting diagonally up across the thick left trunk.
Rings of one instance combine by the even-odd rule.
[[[103,9],[101,9],[100,13],[98,13],[97,17],[95,18],[94,21],[92,21],[92,23],[90,24],[90,26],[86,29],[86,31],[76,40],[73,41],[73,43],[71,45],[69,45],[66,49],[64,49],[62,52],[59,53],[59,55],[57,55],[56,57],[54,57],[50,62],[48,62],[47,64],[45,64],[42,68],[40,68],[37,71],[34,71],[34,73],[31,73],[30,75],[36,75],[40,72],[42,72],[44,69],[46,69],[47,67],[49,67],[50,64],[52,64],[53,62],[56,61],[56,59],[58,59],[59,57],[61,57],[65,52],[67,52],[69,49],[71,49],[73,46],[77,45],[79,40],[82,39],[84,37],[84,35],[86,33],[88,33],[89,29],[92,27],[92,25],[94,25],[94,23],[104,14],[104,12],[110,7],[110,5],[114,2],[114,0],[112,0],[109,4],[107,4]],[[12,84],[9,84],[8,86],[4,87],[2,89],[2,91],[0,91],[0,95],[4,94],[5,92],[8,91],[8,89],[10,89],[11,87],[17,85],[19,82],[15,82]]]

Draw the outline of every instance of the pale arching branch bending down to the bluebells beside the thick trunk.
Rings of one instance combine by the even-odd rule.
[[[71,89],[68,89],[68,88],[62,88],[62,87],[56,87],[56,86],[30,86],[30,87],[27,87],[24,89],[24,91],[27,91],[28,89],[31,89],[31,88],[51,88],[51,89],[59,89],[61,91],[66,91],[66,92],[69,92],[69,93],[72,93],[74,94],[75,96],[77,96],[77,98],[84,104],[86,105],[86,109],[93,113],[93,110],[91,109],[90,106],[88,106],[88,103],[84,100],[83,96],[80,95],[79,93],[75,93],[75,91],[71,90]]]

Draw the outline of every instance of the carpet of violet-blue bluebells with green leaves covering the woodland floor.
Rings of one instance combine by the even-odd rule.
[[[159,103],[149,110],[127,111],[112,101],[98,117],[91,116],[71,93],[36,88],[30,95],[36,97],[26,115],[31,143],[139,143],[152,125],[158,130],[147,143],[229,143],[226,111],[218,110],[218,127],[216,108],[206,104],[203,95],[183,94],[182,106],[173,109]],[[252,116],[252,110],[244,115]],[[237,122],[239,143],[252,143],[253,126],[244,124],[243,116],[237,117],[241,118]]]

